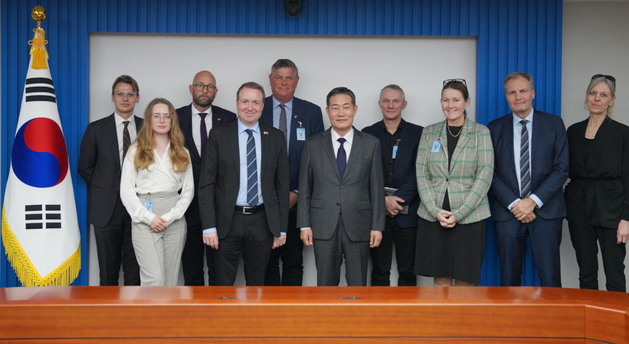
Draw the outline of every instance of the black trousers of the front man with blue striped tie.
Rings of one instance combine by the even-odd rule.
[[[216,286],[233,286],[238,263],[245,261],[247,286],[264,286],[264,274],[273,247],[273,234],[264,210],[255,214],[234,212],[230,231],[214,251]]]

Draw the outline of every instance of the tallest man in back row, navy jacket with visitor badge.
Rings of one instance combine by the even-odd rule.
[[[288,228],[286,245],[271,252],[264,277],[265,286],[301,286],[304,275],[304,244],[297,228],[297,199],[299,184],[299,162],[306,138],[323,131],[321,108],[295,95],[299,82],[297,66],[287,58],[277,60],[271,67],[269,82],[272,96],[264,101],[260,123],[272,125],[284,133],[288,146],[290,175]],[[282,258],[282,276],[279,259]]]

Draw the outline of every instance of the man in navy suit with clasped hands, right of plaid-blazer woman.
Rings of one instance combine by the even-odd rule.
[[[542,286],[561,287],[559,245],[565,217],[568,141],[559,116],[533,109],[533,77],[504,78],[513,113],[487,127],[494,145],[491,192],[496,221],[500,282],[520,286],[526,236]]]

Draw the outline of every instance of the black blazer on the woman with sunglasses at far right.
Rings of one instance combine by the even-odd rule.
[[[583,157],[589,119],[568,128],[570,182],[565,186],[567,219],[571,221],[584,204],[586,191],[594,184],[596,213],[601,226],[618,228],[621,219],[629,220],[629,127],[606,119],[594,136],[592,151]]]

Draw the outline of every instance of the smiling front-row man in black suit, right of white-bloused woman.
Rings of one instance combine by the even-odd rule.
[[[203,242],[216,250],[217,286],[233,286],[240,256],[247,286],[263,286],[271,250],[284,245],[288,221],[288,157],[282,131],[259,123],[264,88],[237,92],[238,120],[209,132],[201,163]]]

